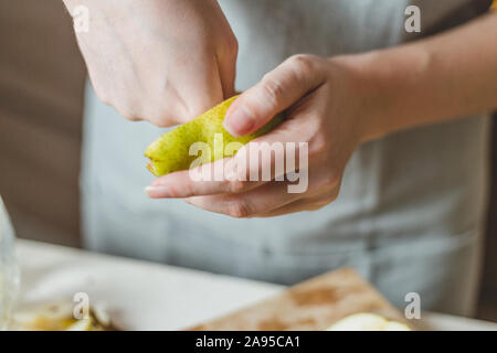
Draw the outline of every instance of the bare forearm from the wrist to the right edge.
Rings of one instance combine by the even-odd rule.
[[[493,13],[431,39],[343,57],[362,79],[363,140],[496,109],[496,43]]]

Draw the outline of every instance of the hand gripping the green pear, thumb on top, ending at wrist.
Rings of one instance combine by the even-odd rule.
[[[306,191],[288,193],[288,181],[243,181],[254,168],[248,164],[246,175],[235,180],[193,181],[189,171],[172,173],[157,179],[148,194],[182,197],[233,217],[276,216],[329,204],[338,195],[347,161],[366,137],[361,119],[369,99],[362,99],[364,89],[347,63],[345,57],[290,57],[236,99],[224,121],[232,135],[244,136],[286,110],[283,125],[251,143],[308,142],[308,168],[299,171],[308,172]],[[266,161],[273,165],[261,167],[274,171],[275,159]]]

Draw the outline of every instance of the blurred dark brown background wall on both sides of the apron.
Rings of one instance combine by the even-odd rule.
[[[20,237],[80,246],[85,68],[61,0],[0,2],[0,194]],[[497,128],[493,131],[497,181]],[[497,321],[497,184],[478,317]]]

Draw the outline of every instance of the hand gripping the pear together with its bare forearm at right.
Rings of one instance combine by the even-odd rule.
[[[308,142],[305,192],[288,193],[288,182],[240,181],[243,173],[234,180],[198,182],[189,171],[159,178],[147,192],[151,197],[183,197],[234,217],[322,207],[337,197],[358,145],[401,129],[495,110],[496,38],[497,13],[392,49],[329,60],[294,56],[233,103],[225,127],[233,135],[246,135],[286,110],[283,125],[253,142]],[[267,165],[275,160],[263,160],[262,167],[275,170]],[[254,167],[258,165],[248,164],[246,174]]]

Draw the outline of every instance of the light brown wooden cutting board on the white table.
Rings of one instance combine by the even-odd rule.
[[[358,312],[374,312],[406,323],[404,317],[370,284],[353,269],[343,268],[191,330],[326,330],[338,320]]]

